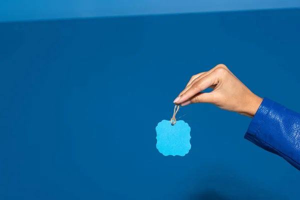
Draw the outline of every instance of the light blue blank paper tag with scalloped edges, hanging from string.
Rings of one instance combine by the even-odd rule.
[[[191,148],[190,127],[183,120],[174,125],[169,120],[162,120],[156,126],[156,148],[164,156],[184,156]]]

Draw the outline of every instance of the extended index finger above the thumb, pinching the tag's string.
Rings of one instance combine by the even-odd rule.
[[[175,103],[180,104],[188,100],[189,98],[199,93],[200,91],[203,91],[207,87],[217,84],[217,81],[217,74],[209,73],[208,75],[202,77],[197,82],[192,84],[189,87],[189,89],[187,89]]]

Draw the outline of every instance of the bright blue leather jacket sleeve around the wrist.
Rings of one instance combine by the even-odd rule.
[[[283,157],[300,170],[299,113],[264,98],[244,138]]]

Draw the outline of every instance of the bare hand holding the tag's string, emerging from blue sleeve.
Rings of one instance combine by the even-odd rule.
[[[208,87],[213,90],[201,92]],[[250,117],[254,116],[261,102],[262,98],[252,93],[224,64],[191,76],[185,89],[174,100],[181,106],[212,103]]]

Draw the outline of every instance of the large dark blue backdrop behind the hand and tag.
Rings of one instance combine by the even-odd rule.
[[[300,173],[250,118],[182,107],[185,156],[156,149],[190,76],[218,63],[300,111],[300,10],[0,24],[0,199],[298,199]],[[182,117],[181,117],[182,116]]]

